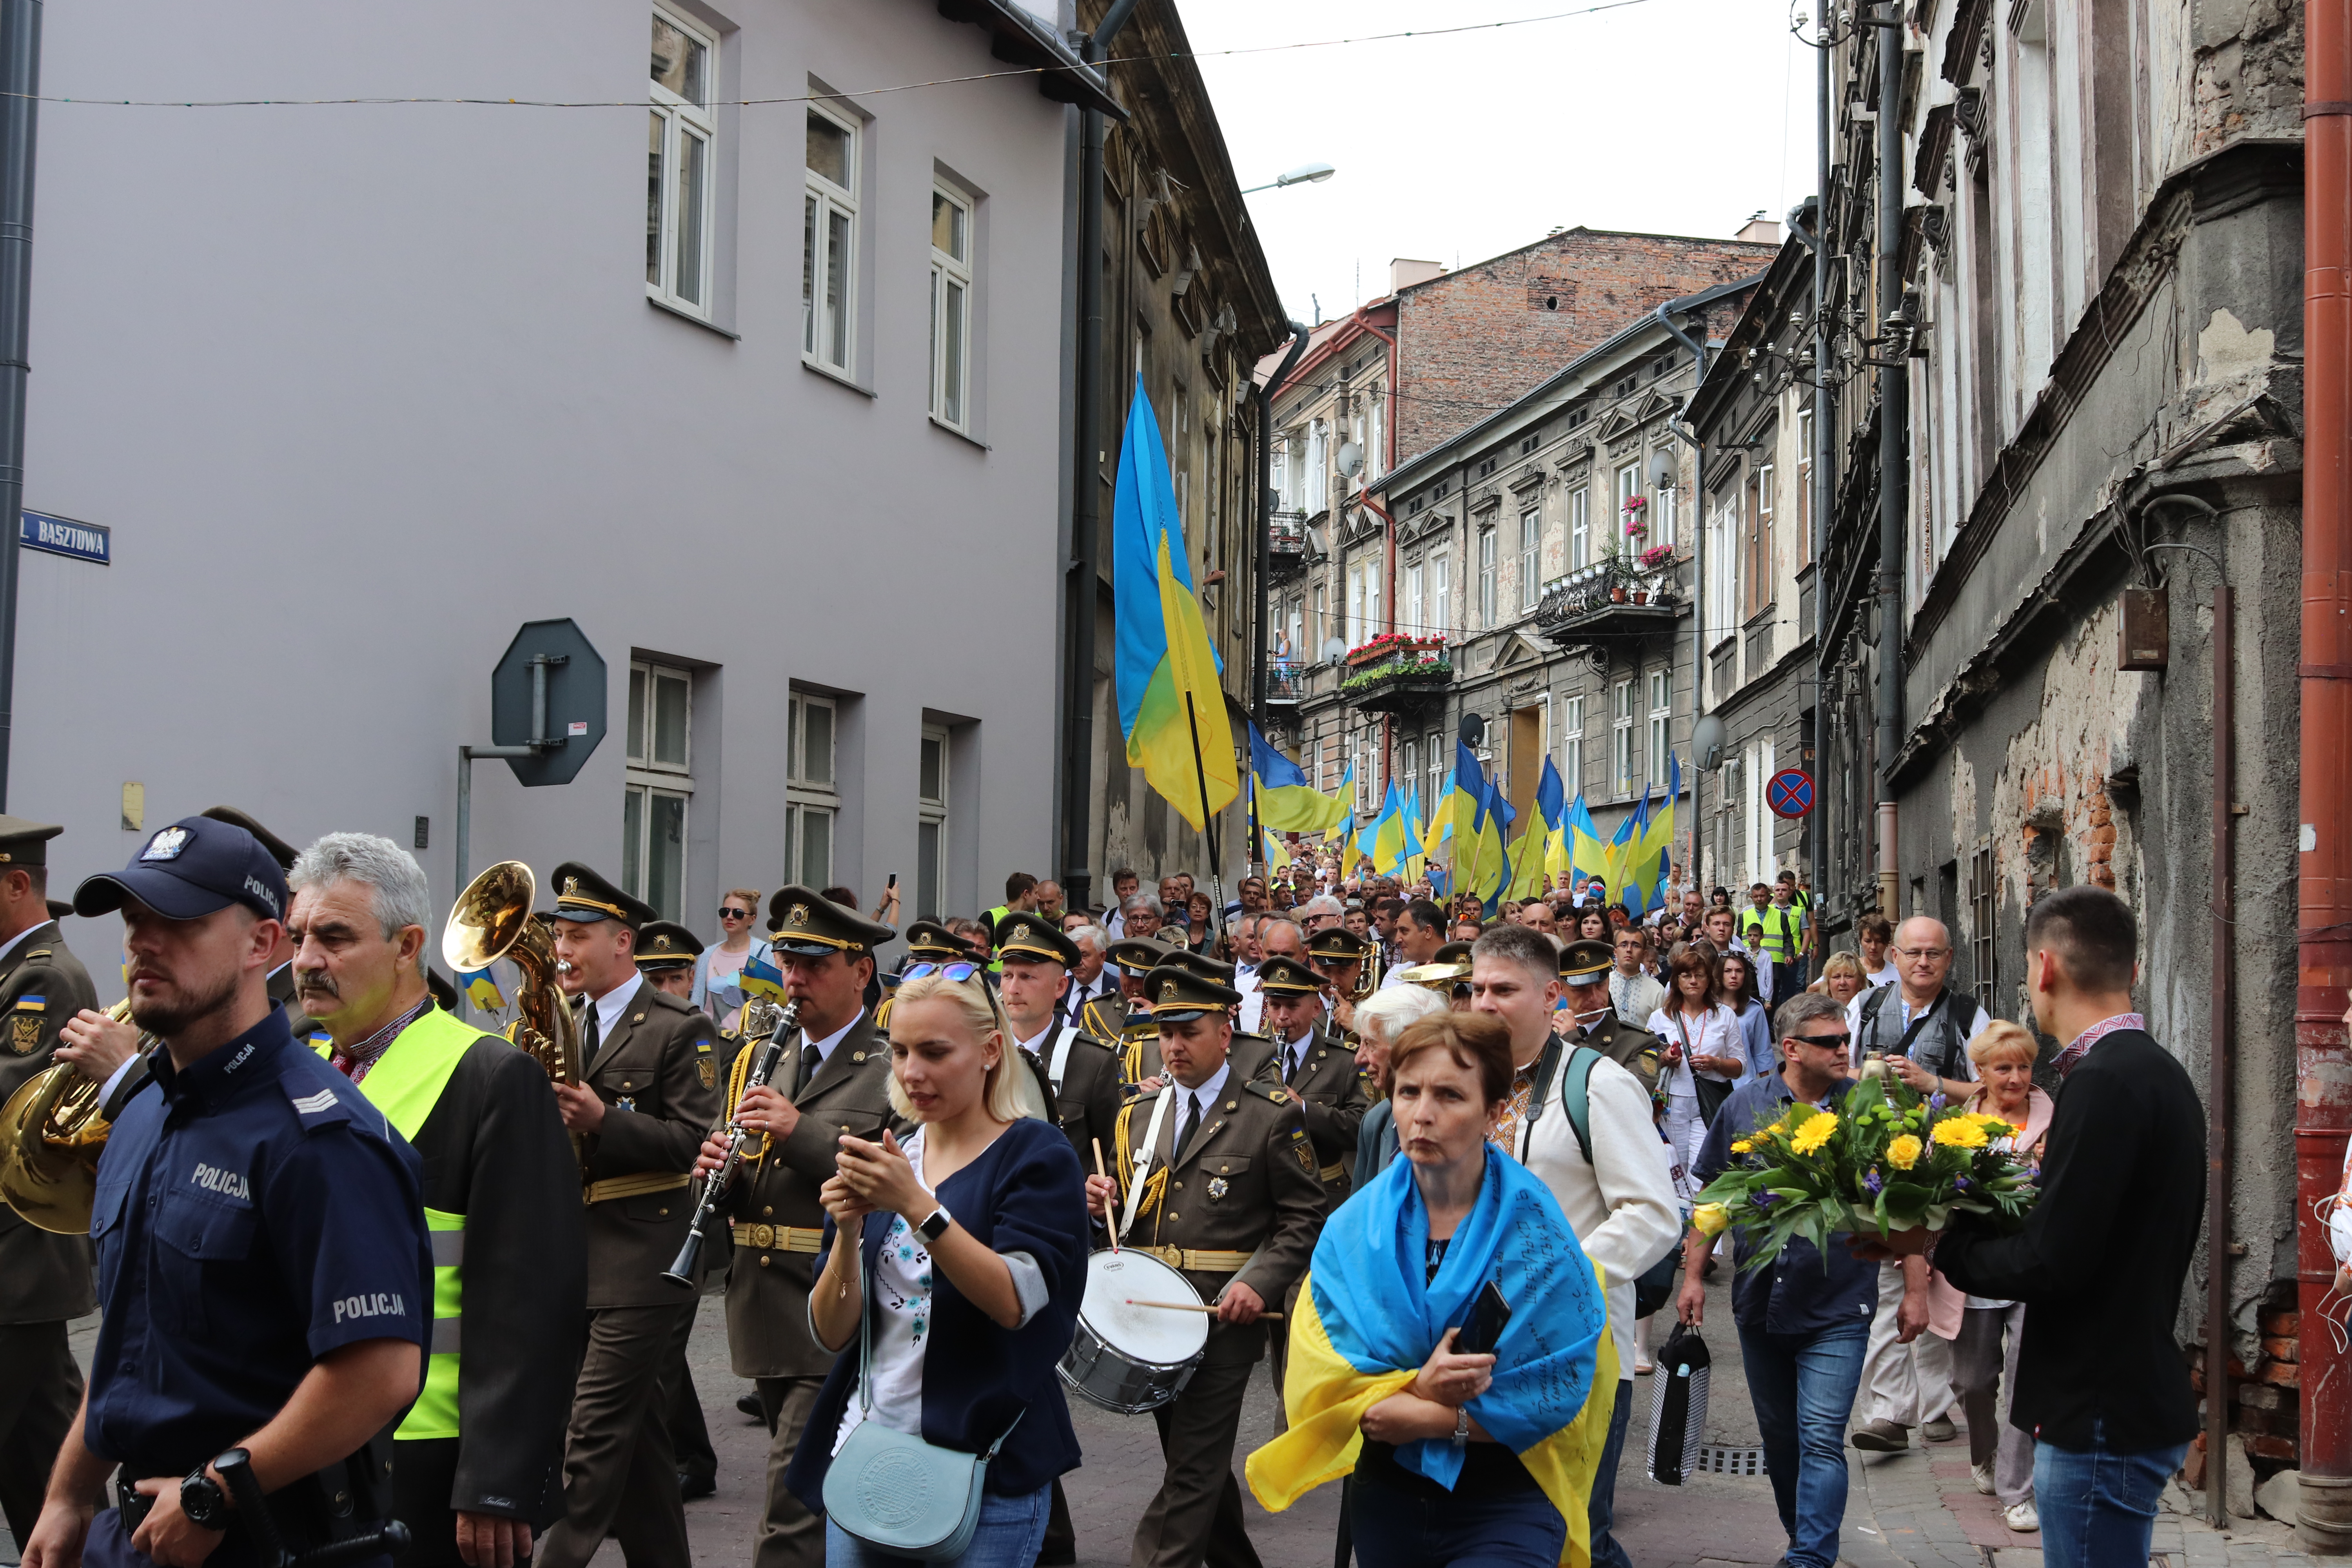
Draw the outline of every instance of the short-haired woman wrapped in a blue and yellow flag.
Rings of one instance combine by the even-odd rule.
[[[1364,1568],[1590,1563],[1616,1347],[1559,1204],[1486,1143],[1510,1079],[1510,1032],[1484,1013],[1397,1039],[1404,1159],[1324,1222],[1291,1321],[1289,1432],[1249,1455],[1275,1512],[1348,1479]],[[1494,1352],[1465,1354],[1456,1340],[1498,1305]]]

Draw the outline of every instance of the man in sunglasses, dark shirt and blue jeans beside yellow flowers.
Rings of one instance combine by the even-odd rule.
[[[1785,1138],[1790,1150],[1816,1154],[1837,1133],[1837,1112],[1853,1086],[1846,1077],[1851,1037],[1844,1011],[1825,994],[1797,992],[1780,1004],[1778,1034],[1780,1072],[1740,1084],[1715,1114],[1698,1147],[1693,1173],[1700,1182],[1748,1157],[1764,1128],[1785,1128],[1799,1107],[1802,1121]],[[1731,1281],[1731,1321],[1740,1333],[1748,1399],[1764,1434],[1764,1472],[1788,1530],[1785,1561],[1792,1568],[1830,1568],[1846,1516],[1846,1415],[1863,1378],[1879,1269],[1856,1262],[1844,1237],[1828,1248],[1790,1237],[1778,1255],[1748,1267],[1766,1237],[1773,1201],[1769,1187],[1757,1187],[1738,1206],[1743,1213],[1724,1204],[1698,1208],[1693,1232],[1700,1239],[1682,1248],[1677,1314],[1691,1326],[1705,1316],[1700,1281],[1708,1248],[1729,1225],[1740,1262]]]

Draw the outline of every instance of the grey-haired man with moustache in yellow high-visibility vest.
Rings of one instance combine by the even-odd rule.
[[[409,851],[329,832],[287,877],[299,1004],[329,1063],[426,1161],[433,1342],[393,1432],[405,1561],[513,1568],[564,1516],[588,1328],[581,1166],[539,1063],[433,1004],[433,896]]]

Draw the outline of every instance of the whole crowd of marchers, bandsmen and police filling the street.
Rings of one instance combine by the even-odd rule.
[[[45,905],[54,832],[0,818],[0,966],[35,966],[0,985],[49,1009],[28,1070],[87,1077],[113,1131],[87,1237],[0,1229],[82,1291],[49,1291],[5,1434],[56,1455],[42,1497],[0,1495],[28,1568],[240,1568],[379,1519],[409,1563],[579,1566],[612,1537],[684,1568],[703,1293],[769,1429],[760,1568],[1075,1561],[1070,1392],[1157,1425],[1134,1568],[1249,1568],[1235,1446],[1268,1359],[1284,1429],[1249,1486],[1279,1509],[1343,1481],[1364,1568],[1630,1568],[1651,1321],[1698,1328],[1755,1248],[1693,1229],[1696,1197],[1860,1072],[2018,1128],[2044,1199],[2023,1234],[1962,1215],[1736,1274],[1785,1561],[1837,1561],[1849,1443],[1955,1441],[1955,1413],[2046,1561],[2124,1561],[2133,1530],[2145,1561],[2194,1425],[2169,1333],[2201,1119],[2096,889],[2030,912],[2049,1058],[1950,985],[1933,919],[1825,954],[1795,872],[1656,910],[1562,877],[1486,910],[1303,856],[1225,907],[1190,875],[1065,907],[1016,872],[981,914],[908,922],[894,893],[729,889],[706,943],[567,863],[515,1004],[564,1067],[461,1023],[405,849],[296,853],[228,809],[75,891],[125,919],[127,1018],[101,1013]],[[534,1011],[534,983],[562,997]],[[64,1319],[92,1260],[85,1389]],[[948,1476],[936,1537],[908,1535],[938,1512],[910,1474]]]

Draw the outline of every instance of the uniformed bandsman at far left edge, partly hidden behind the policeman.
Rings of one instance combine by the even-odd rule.
[[[59,832],[0,816],[0,1103],[49,1067],[59,1025],[99,1004],[49,912],[49,839]],[[42,1479],[82,1403],[66,1319],[96,1305],[87,1234],[54,1234],[0,1206],[0,1509],[19,1542],[33,1535]]]

